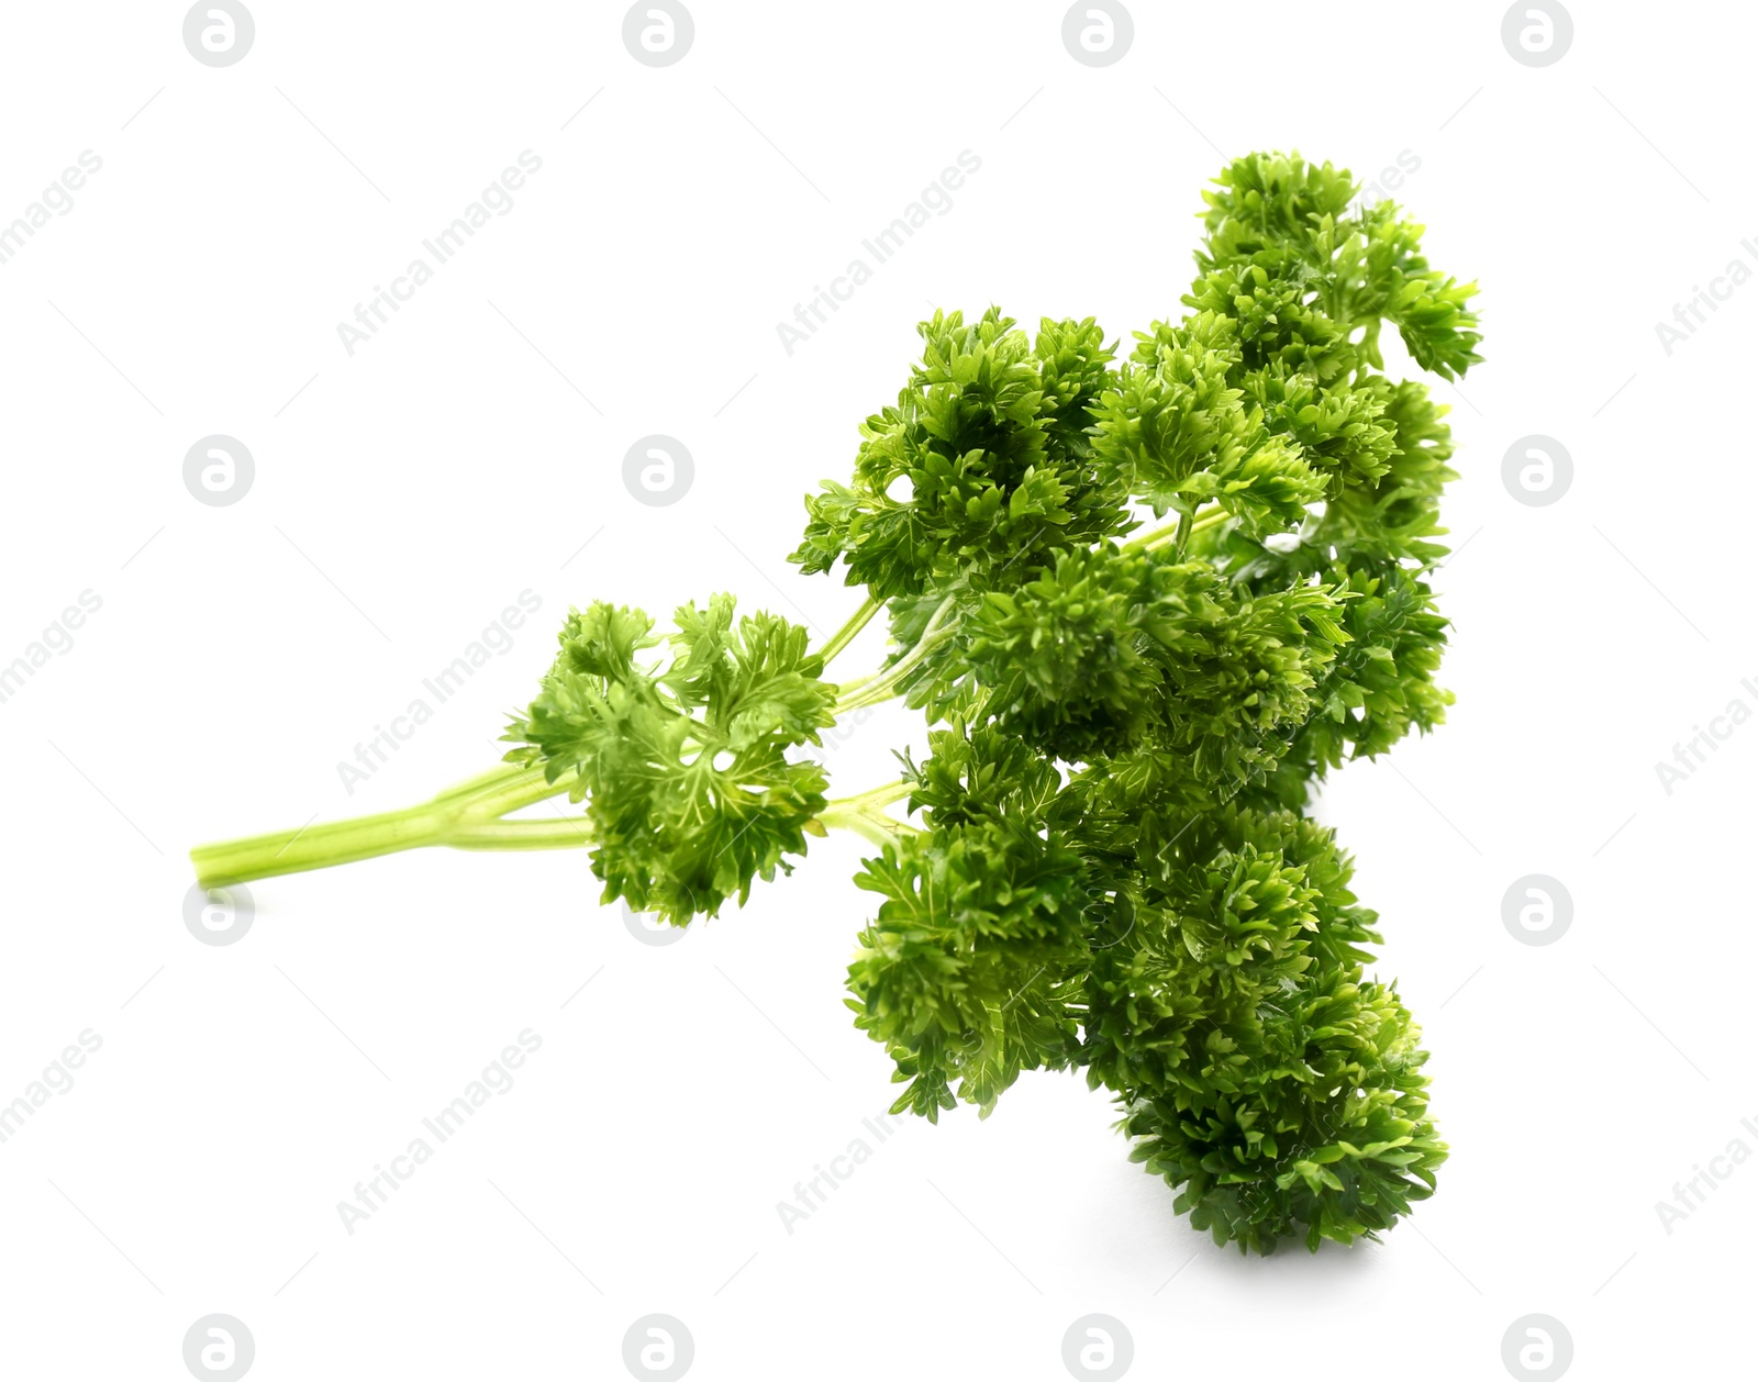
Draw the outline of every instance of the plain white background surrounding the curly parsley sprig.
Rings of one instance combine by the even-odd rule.
[[[650,69],[621,5],[260,0],[250,55],[209,69],[178,5],[7,7],[0,220],[83,149],[104,165],[0,264],[0,663],[102,598],[0,705],[0,1101],[102,1037],[0,1145],[5,1375],[186,1377],[211,1312],[265,1382],[622,1377],[649,1312],[705,1380],[1057,1378],[1088,1312],[1139,1377],[1496,1378],[1533,1312],[1575,1377],[1749,1368],[1758,1166],[1670,1234],[1654,1206],[1758,1150],[1758,726],[1670,795],[1654,763],[1758,709],[1758,287],[1670,355],[1654,325],[1758,265],[1758,21],[1582,0],[1529,69],[1494,4],[1132,11],[1088,69],[1060,4],[700,0]],[[1431,260],[1482,283],[1487,362],[1440,385],[1457,707],[1320,807],[1454,1146],[1382,1245],[1215,1248],[1074,1076],[905,1125],[786,1233],[777,1201],[895,1092],[842,1006],[851,837],[668,948],[575,853],[272,879],[237,944],[185,928],[192,844],[492,761],[570,603],[731,589],[835,628],[853,593],[784,559],[798,496],[847,471],[914,322],[999,302],[1127,345],[1181,315],[1199,190],[1253,148],[1368,179],[1408,151]],[[513,209],[350,357],[338,322],[522,149]],[[789,357],[777,322],[962,149],[953,209]],[[257,464],[227,508],[181,480],[213,433]],[[624,489],[649,433],[694,455],[673,506]],[[1575,464],[1542,508],[1501,484],[1533,433]],[[350,795],[338,761],[526,589],[512,651]],[[874,626],[839,670],[881,652]],[[875,714],[837,789],[916,738]],[[1531,872],[1575,907],[1544,948],[1501,921]],[[338,1201],[527,1027],[517,1087],[346,1233]]]

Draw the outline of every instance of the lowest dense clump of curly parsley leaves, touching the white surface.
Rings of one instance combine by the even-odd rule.
[[[1362,979],[1378,935],[1348,862],[1289,812],[1225,809],[1181,844],[1157,851],[1127,942],[1093,955],[1088,1080],[1217,1241],[1389,1227],[1445,1146],[1410,1015]]]

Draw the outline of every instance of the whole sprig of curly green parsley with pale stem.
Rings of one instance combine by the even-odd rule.
[[[807,835],[854,830],[877,909],[849,1006],[897,1064],[898,1111],[988,1115],[1023,1071],[1079,1067],[1217,1241],[1373,1238],[1431,1194],[1445,1145],[1417,1027],[1364,976],[1377,916],[1304,811],[1327,770],[1450,702],[1427,580],[1447,410],[1385,378],[1380,332],[1442,378],[1478,334],[1473,285],[1355,192],[1329,164],[1234,162],[1204,193],[1190,315],[1122,360],[1092,320],[923,322],[853,478],[807,499],[793,559],[867,593],[823,647],[726,594],[663,636],[594,603],[503,767],[195,849],[200,883],[587,846],[607,902],[687,925]],[[828,680],[881,612],[893,654]],[[926,714],[928,756],[830,800],[802,749],[893,698]],[[510,814],[552,796],[584,814]]]

